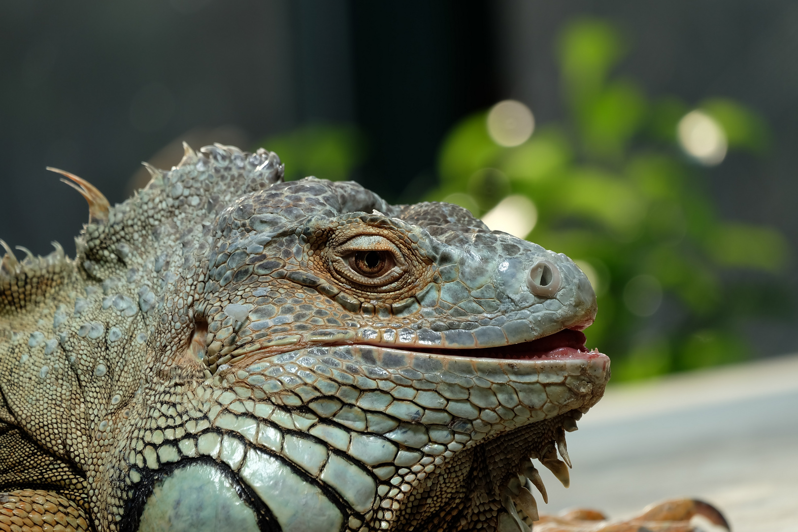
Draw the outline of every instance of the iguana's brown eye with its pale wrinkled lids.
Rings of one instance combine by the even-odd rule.
[[[405,258],[388,238],[361,234],[334,250],[333,266],[350,282],[377,288],[396,282],[405,274]]]

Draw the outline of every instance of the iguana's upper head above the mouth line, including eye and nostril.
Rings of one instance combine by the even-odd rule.
[[[219,216],[207,254],[196,315],[211,373],[313,345],[515,345],[595,317],[590,282],[564,255],[460,207],[393,207],[355,183],[247,195]]]

